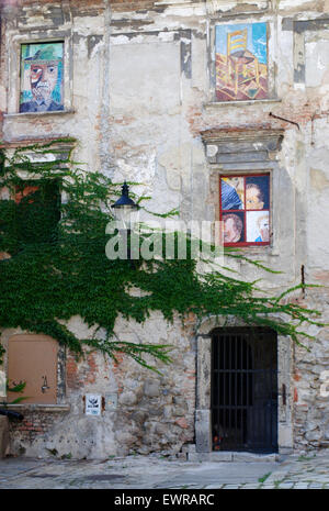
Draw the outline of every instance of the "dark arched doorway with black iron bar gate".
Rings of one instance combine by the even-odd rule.
[[[212,337],[213,449],[277,452],[276,333],[220,329]]]

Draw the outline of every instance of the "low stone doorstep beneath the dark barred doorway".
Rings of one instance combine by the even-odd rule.
[[[249,463],[274,463],[281,459],[277,453],[273,454],[256,454],[256,453],[241,453],[241,452],[212,452],[212,453],[188,453],[188,462],[249,462]]]

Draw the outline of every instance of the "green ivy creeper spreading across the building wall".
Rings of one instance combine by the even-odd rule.
[[[56,141],[60,142],[72,141]],[[29,153],[54,155],[53,145],[29,147]],[[298,335],[307,335],[300,325],[320,324],[311,319],[317,311],[283,302],[288,291],[280,298],[256,296],[257,282],[228,277],[219,267],[202,275],[191,257],[138,262],[136,267],[127,260],[109,260],[105,226],[113,218],[111,203],[121,195],[121,187],[100,173],[82,170],[63,153],[58,151],[56,162],[45,158],[38,164],[26,157],[26,148],[16,149],[12,157],[0,155],[0,189],[10,192],[10,199],[0,201],[0,253],[11,256],[0,260],[1,327],[20,326],[50,335],[77,355],[83,353],[83,346],[113,358],[123,352],[151,367],[145,355],[169,363],[170,347],[115,338],[118,314],[137,322],[144,322],[151,311],[161,311],[168,321],[174,313],[182,319],[194,313],[200,320],[234,315],[247,324],[291,335],[296,342]],[[37,188],[23,197],[26,185]],[[61,196],[66,197],[63,202]],[[227,255],[245,258],[231,249]],[[250,263],[269,270],[261,262]],[[146,292],[131,296],[132,287]],[[275,314],[287,320],[274,320]],[[73,315],[94,326],[92,340],[78,340],[63,324]],[[98,337],[99,329],[106,332],[105,340]],[[0,360],[2,354],[0,346]]]

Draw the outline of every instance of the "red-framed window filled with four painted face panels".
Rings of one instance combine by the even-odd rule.
[[[219,179],[224,244],[270,243],[270,175],[224,176]]]

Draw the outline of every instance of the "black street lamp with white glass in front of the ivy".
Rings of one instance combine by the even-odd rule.
[[[124,181],[122,187],[122,195],[120,199],[112,205],[115,209],[115,218],[123,225],[123,231],[126,231],[127,236],[127,256],[128,260],[133,268],[135,268],[135,263],[131,257],[131,233],[134,230],[134,225],[137,220],[137,212],[139,205],[133,201],[129,197],[129,187],[126,181]]]

